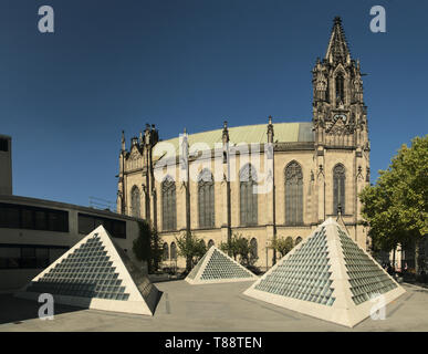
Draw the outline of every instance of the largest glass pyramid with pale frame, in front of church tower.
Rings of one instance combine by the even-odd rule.
[[[405,292],[330,218],[243,294],[353,327]]]

